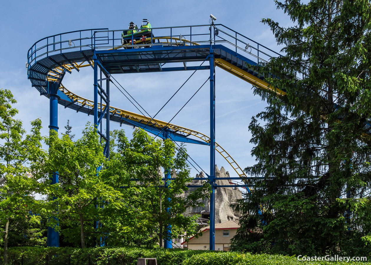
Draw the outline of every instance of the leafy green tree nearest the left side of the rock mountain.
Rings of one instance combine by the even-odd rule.
[[[125,186],[122,191],[125,214],[132,216],[128,221],[124,219],[125,225],[122,225],[127,234],[133,235],[128,241],[135,240],[134,235],[141,235],[139,238],[143,238],[145,244],[153,244],[157,239],[162,247],[163,239],[196,233],[197,216],[185,217],[182,213],[189,206],[202,205],[200,199],[209,195],[209,186],[206,184],[187,198],[180,196],[192,179],[184,146],[176,148],[171,140],[155,140],[142,129],[135,130],[130,141],[123,130],[115,131],[114,136],[116,152],[111,156],[108,169],[113,170],[111,174],[118,176],[118,180],[124,180],[118,183]],[[167,186],[162,173],[166,170],[174,178]],[[125,176],[119,177],[122,174]],[[167,225],[172,226],[171,236]]]

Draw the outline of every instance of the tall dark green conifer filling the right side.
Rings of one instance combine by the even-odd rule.
[[[370,255],[370,1],[276,5],[294,25],[262,22],[285,55],[256,70],[287,95],[254,89],[268,106],[245,172],[264,178],[240,202],[234,249]]]

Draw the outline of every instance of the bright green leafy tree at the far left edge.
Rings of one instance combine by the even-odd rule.
[[[20,223],[38,223],[40,217],[31,214],[37,179],[30,175],[28,163],[40,153],[41,121],[35,120],[32,132],[26,131],[20,120],[14,119],[18,110],[10,90],[0,89],[0,221],[4,225],[4,264],[7,264],[9,231]]]

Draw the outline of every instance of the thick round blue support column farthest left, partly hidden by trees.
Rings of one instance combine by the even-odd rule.
[[[50,130],[55,130],[58,132],[58,99],[59,96],[57,96],[58,92],[58,87],[59,84],[55,82],[49,82],[49,100],[50,100],[50,110],[49,110],[49,115],[50,115],[50,125],[49,129]],[[50,132],[52,133],[52,132]],[[51,184],[56,184],[58,183],[58,172],[56,174],[53,174],[50,177]],[[55,200],[56,197],[53,196],[53,200]],[[57,206],[58,209],[58,206]],[[58,210],[57,210],[58,211]],[[49,217],[50,218],[50,217]],[[58,221],[58,218],[55,218]],[[59,223],[57,223],[58,227]],[[46,240],[46,245],[47,246],[56,246],[59,247],[59,232],[56,231],[55,227],[48,226],[47,228],[47,240]]]

